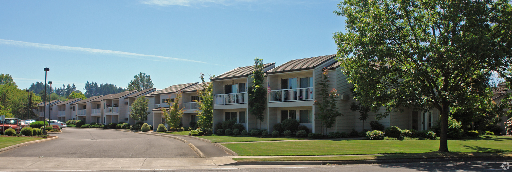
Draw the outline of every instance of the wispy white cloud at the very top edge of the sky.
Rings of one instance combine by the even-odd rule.
[[[252,0],[144,0],[142,4],[156,5],[156,6],[205,6],[207,4],[219,4],[230,6],[240,2],[252,2]]]

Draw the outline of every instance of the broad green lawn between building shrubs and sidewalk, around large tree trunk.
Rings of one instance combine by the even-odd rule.
[[[364,155],[427,153],[439,140],[315,140],[223,144],[240,156]],[[512,137],[448,140],[452,152],[512,152]]]

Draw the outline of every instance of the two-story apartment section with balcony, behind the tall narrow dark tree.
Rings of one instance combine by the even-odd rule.
[[[263,70],[266,72],[274,66],[275,63],[266,63]],[[260,121],[257,124],[255,117],[249,115],[248,109],[247,88],[252,85],[251,76],[254,70],[254,66],[240,67],[211,78],[214,92],[214,128],[217,123],[226,120],[236,120],[247,130],[259,128]],[[263,123],[266,123],[266,119]],[[262,128],[267,126],[262,124]]]

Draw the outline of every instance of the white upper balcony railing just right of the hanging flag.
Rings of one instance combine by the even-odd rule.
[[[313,88],[272,90],[269,102],[313,100]]]

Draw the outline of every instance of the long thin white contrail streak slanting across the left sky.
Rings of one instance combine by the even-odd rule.
[[[121,57],[154,60],[154,61],[177,60],[177,61],[198,62],[198,63],[217,65],[217,64],[213,64],[213,63],[204,62],[204,61],[189,60],[189,59],[184,59],[184,58],[174,58],[174,57],[165,57],[165,56],[157,56],[157,55],[129,53],[129,52],[123,52],[123,51],[82,48],[82,47],[57,46],[57,45],[51,45],[51,44],[39,44],[39,43],[33,43],[33,42],[24,42],[24,41],[7,40],[7,39],[0,39],[0,44],[10,45],[10,46],[18,46],[18,47],[46,49],[46,50],[77,51],[77,52],[84,52],[84,53],[90,53],[90,54],[106,54],[106,55],[115,55],[115,56],[121,56]]]

